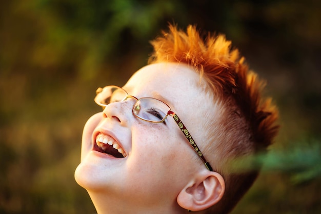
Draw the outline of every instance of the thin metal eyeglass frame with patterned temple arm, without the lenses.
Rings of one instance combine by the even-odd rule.
[[[109,105],[110,103],[107,104],[107,105],[102,104],[102,103],[99,103],[99,102],[97,101],[97,96],[98,96],[99,93],[101,93],[101,92],[102,92],[105,88],[107,88],[107,87],[115,87],[115,88],[121,89],[121,90],[123,90],[124,92],[126,92],[127,96],[126,96],[122,101],[117,101],[117,102],[123,102],[123,101],[127,100],[127,98],[133,98],[133,99],[136,100],[136,102],[135,102],[135,104],[133,105],[133,108],[132,108],[132,113],[133,113],[133,114],[136,116],[136,118],[138,118],[138,119],[141,119],[141,120],[146,121],[146,122],[149,122],[149,123],[163,123],[163,122],[166,120],[166,118],[167,118],[168,115],[172,116],[172,118],[174,119],[174,121],[176,122],[176,124],[178,125],[178,127],[180,128],[180,130],[184,133],[184,135],[185,135],[186,139],[188,140],[189,144],[191,145],[191,147],[194,149],[194,151],[197,153],[198,157],[199,157],[199,158],[203,161],[203,163],[205,164],[206,168],[207,168],[209,171],[213,171],[211,165],[210,165],[209,162],[205,159],[203,153],[200,151],[200,149],[199,149],[198,146],[196,145],[196,143],[195,143],[194,139],[192,138],[191,134],[189,133],[189,131],[187,130],[187,128],[185,127],[185,125],[183,124],[183,122],[178,118],[177,114],[176,114],[175,112],[171,111],[171,107],[170,107],[169,105],[167,105],[167,104],[164,103],[163,101],[158,100],[158,99],[156,99],[156,98],[146,97],[146,98],[139,98],[139,99],[138,99],[138,98],[136,98],[135,96],[129,95],[128,92],[127,92],[125,89],[121,88],[121,87],[114,86],[114,85],[109,85],[109,86],[105,86],[104,88],[99,87],[99,88],[97,88],[97,90],[96,90],[96,96],[95,96],[94,101],[95,101],[95,103],[96,103],[98,106],[103,107],[103,109],[105,109],[105,107],[106,107],[107,105]],[[134,112],[134,109],[135,109],[135,106],[136,106],[137,102],[138,102],[139,100],[147,99],[147,98],[160,101],[160,102],[164,103],[166,106],[168,106],[169,111],[166,113],[166,115],[164,116],[164,118],[163,118],[162,120],[160,120],[160,121],[146,120],[146,119],[144,119],[144,118],[141,118],[140,116],[138,116],[138,115]]]

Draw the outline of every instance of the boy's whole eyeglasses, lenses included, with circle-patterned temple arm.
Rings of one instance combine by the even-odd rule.
[[[96,90],[95,103],[99,106],[105,107],[114,102],[122,102],[128,98],[133,98],[136,100],[134,107],[132,109],[133,114],[143,120],[150,123],[166,123],[165,119],[168,115],[172,116],[176,124],[179,126],[180,130],[184,133],[186,139],[189,141],[190,145],[193,147],[194,151],[197,153],[198,157],[202,159],[206,168],[213,171],[210,164],[206,161],[203,153],[199,150],[195,141],[193,140],[191,134],[184,126],[183,122],[178,118],[177,114],[171,111],[171,108],[164,103],[155,98],[135,98],[135,96],[129,95],[127,91],[118,86],[106,86],[104,88],[98,88]]]

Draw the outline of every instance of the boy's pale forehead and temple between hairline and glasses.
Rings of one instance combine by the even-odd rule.
[[[124,89],[137,98],[148,96],[164,101],[184,122],[187,118],[196,117],[200,122],[203,112],[214,105],[212,95],[206,93],[210,90],[205,90],[205,87],[205,81],[192,67],[178,63],[157,63],[139,69]]]

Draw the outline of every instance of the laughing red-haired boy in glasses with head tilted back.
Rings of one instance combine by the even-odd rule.
[[[98,214],[228,213],[258,174],[232,163],[276,135],[277,112],[231,43],[169,28],[124,87],[97,90],[104,110],[84,127],[75,179]]]

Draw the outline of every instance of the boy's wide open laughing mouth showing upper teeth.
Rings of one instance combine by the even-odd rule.
[[[96,137],[94,150],[112,155],[115,158],[125,158],[127,156],[124,149],[108,135],[99,133]]]

